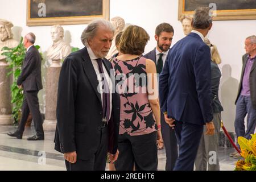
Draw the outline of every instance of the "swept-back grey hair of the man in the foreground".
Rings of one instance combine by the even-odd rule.
[[[105,30],[110,30],[113,32],[113,34],[115,32],[115,28],[113,24],[110,23],[108,20],[101,19],[101,18],[93,20],[88,24],[85,30],[82,31],[81,41],[84,44],[84,46],[88,44],[88,39],[92,39],[96,35],[98,27],[103,27],[105,28]]]

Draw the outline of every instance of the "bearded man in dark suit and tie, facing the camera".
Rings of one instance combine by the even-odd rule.
[[[166,61],[166,57],[172,44],[173,36],[174,28],[170,24],[159,24],[155,30],[156,47],[144,55],[147,59],[151,59],[155,62],[158,74],[162,72],[164,62]],[[161,131],[164,147],[166,148],[166,171],[172,171],[177,159],[177,140],[174,130],[166,123],[166,121],[164,121],[164,114],[162,112]],[[158,142],[161,144],[161,138],[158,138]]]

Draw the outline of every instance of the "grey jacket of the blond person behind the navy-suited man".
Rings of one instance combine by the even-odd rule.
[[[220,86],[221,72],[218,65],[213,61],[210,61],[210,72],[212,82],[212,109],[213,113],[220,113],[223,111],[223,107],[218,99],[218,88]]]

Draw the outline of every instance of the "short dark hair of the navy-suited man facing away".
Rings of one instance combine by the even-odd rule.
[[[206,29],[212,23],[212,17],[209,15],[209,7],[197,7],[193,15],[192,27],[196,29]]]

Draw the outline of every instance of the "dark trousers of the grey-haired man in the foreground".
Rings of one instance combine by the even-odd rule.
[[[75,164],[65,160],[67,171],[105,171],[108,154],[108,127],[101,129],[101,142],[96,154],[89,160],[77,159]],[[77,154],[79,156],[79,154]]]

